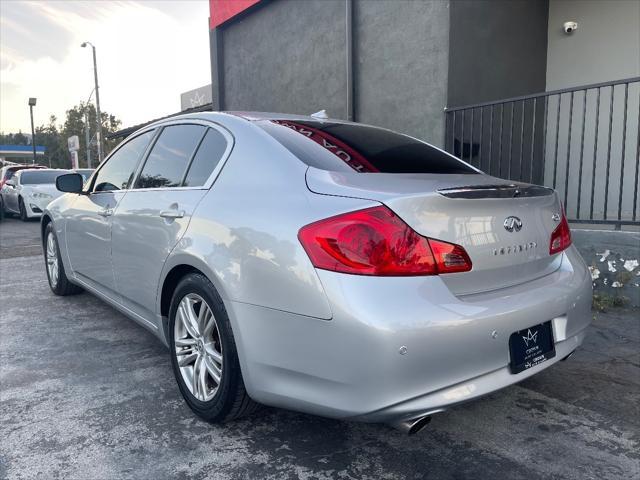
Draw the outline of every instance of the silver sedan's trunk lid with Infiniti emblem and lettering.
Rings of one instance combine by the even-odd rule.
[[[310,167],[307,185],[324,195],[383,203],[426,237],[465,248],[470,272],[442,275],[453,293],[517,285],[555,271],[549,255],[561,207],[552,190],[482,174],[329,172]]]

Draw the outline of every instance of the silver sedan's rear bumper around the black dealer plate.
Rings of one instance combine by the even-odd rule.
[[[234,302],[243,376],[257,401],[397,422],[441,411],[553,365],[591,321],[591,277],[574,247],[552,274],[456,297],[439,277],[319,271],[331,320]],[[511,333],[552,321],[556,356],[511,374]]]

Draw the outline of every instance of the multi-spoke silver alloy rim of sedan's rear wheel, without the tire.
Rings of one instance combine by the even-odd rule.
[[[213,311],[200,295],[190,293],[180,300],[173,333],[187,388],[201,402],[211,400],[222,380],[222,341]]]

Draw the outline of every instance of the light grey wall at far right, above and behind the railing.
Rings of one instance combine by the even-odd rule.
[[[566,21],[578,22],[571,35]],[[548,91],[640,76],[640,1],[550,0],[548,36]],[[596,220],[616,219],[619,206],[632,220],[640,83],[563,94],[558,115],[559,98],[548,101],[545,184],[566,191],[571,218],[590,216],[593,187]]]

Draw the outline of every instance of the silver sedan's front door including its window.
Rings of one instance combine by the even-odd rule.
[[[67,252],[73,273],[89,286],[114,295],[111,221],[133,181],[138,163],[155,132],[144,132],[121,145],[94,175],[87,192],[66,213]]]

